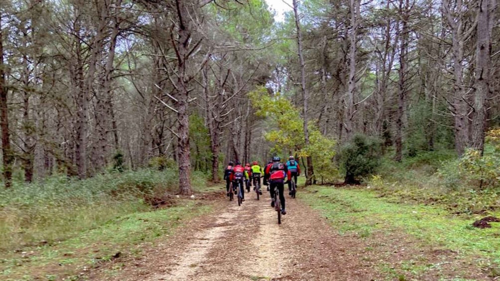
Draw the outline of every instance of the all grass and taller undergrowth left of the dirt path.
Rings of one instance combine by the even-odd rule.
[[[217,188],[205,179],[192,173],[195,192]],[[54,176],[1,190],[0,280],[80,280],[74,275],[117,256],[140,255],[136,245],[210,211],[172,196],[176,185],[175,171],[144,169],[82,181]],[[161,200],[173,207],[154,209]]]

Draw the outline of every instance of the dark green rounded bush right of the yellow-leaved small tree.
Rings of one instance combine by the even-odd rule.
[[[353,184],[374,172],[380,160],[381,140],[355,134],[340,149],[340,159],[345,170],[345,183]]]

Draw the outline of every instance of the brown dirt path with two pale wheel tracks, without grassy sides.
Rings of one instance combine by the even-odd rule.
[[[315,212],[286,198],[277,224],[268,192],[251,192],[241,207],[221,196],[212,215],[187,223],[165,244],[126,263],[115,277],[92,280],[371,280],[375,273]],[[350,254],[348,254],[350,253]]]

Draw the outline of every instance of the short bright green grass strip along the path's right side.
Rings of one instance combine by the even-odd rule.
[[[299,198],[318,210],[340,234],[370,239],[374,233],[385,236],[403,233],[419,243],[414,247],[451,250],[460,259],[475,259],[476,265],[492,272],[500,264],[500,223],[492,223],[490,229],[472,228],[471,223],[478,216],[452,216],[437,206],[388,202],[366,188],[309,187],[305,191]],[[398,269],[385,264],[379,266],[390,278],[400,279],[398,272],[418,274],[439,265],[422,266],[422,263],[407,261]]]

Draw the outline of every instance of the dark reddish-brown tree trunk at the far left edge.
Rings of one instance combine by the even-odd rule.
[[[1,145],[3,154],[3,180],[5,188],[10,188],[12,184],[12,162],[13,154],[10,149],[10,132],[8,130],[8,108],[7,108],[7,87],[5,85],[5,72],[3,71],[3,32],[2,18],[0,14],[0,127]]]

